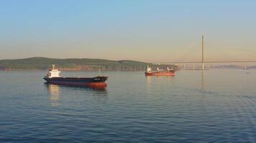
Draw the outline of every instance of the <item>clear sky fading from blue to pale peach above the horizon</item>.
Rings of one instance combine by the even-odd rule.
[[[0,59],[256,60],[256,1],[1,0]]]

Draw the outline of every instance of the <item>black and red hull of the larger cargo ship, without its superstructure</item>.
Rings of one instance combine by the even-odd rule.
[[[106,88],[108,77],[76,78],[76,77],[53,77],[44,78],[48,84],[58,84],[74,87]]]

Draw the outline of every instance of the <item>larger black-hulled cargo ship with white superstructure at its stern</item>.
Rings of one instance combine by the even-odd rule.
[[[60,77],[60,71],[52,65],[47,75],[43,78],[48,84],[60,84],[77,87],[105,88],[108,77]]]

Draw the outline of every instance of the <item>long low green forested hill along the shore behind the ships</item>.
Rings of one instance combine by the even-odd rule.
[[[4,59],[0,60],[1,70],[28,70],[50,69],[55,64],[63,70],[145,70],[147,65],[140,61],[113,61],[106,59],[50,59],[45,57],[33,57],[28,59]]]

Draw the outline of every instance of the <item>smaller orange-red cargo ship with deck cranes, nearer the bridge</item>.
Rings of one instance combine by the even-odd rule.
[[[145,72],[146,76],[175,76],[175,70],[169,69],[167,67],[167,70],[159,69],[157,67],[157,71],[152,71],[152,69],[147,66],[147,71]]]

